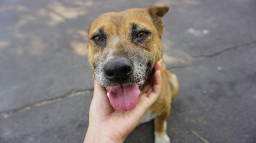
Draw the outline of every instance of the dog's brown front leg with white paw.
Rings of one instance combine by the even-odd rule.
[[[170,114],[170,108],[168,107],[167,110],[155,118],[155,143],[170,143],[170,138],[166,133],[166,119]]]

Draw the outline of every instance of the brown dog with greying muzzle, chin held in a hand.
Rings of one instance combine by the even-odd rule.
[[[162,16],[168,7],[149,7],[105,13],[88,29],[88,60],[94,76],[108,91],[117,110],[132,110],[140,88],[162,58]],[[155,119],[155,142],[170,142],[166,119],[179,88],[177,77],[162,64],[162,92],[140,123]]]

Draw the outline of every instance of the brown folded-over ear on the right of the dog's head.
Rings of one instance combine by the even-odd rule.
[[[169,10],[168,7],[149,7],[147,11],[152,17],[153,24],[158,30],[159,36],[162,37],[162,30],[164,30],[164,22],[162,21],[162,17]]]

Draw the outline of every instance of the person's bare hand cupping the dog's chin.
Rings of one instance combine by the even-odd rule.
[[[129,111],[115,110],[110,105],[106,89],[95,81],[84,143],[124,142],[159,97],[162,88],[161,69],[162,60],[158,60],[154,67],[155,73],[140,91],[136,107]]]

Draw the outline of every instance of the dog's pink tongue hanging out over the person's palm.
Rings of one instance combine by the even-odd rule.
[[[118,110],[132,110],[137,105],[140,90],[136,83],[128,86],[113,86],[109,89],[110,104]]]

